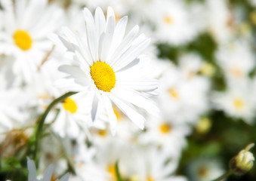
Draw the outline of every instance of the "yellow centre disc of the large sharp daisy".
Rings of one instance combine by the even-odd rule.
[[[103,62],[96,62],[91,67],[91,78],[100,90],[110,92],[115,87],[116,75],[113,69]]]

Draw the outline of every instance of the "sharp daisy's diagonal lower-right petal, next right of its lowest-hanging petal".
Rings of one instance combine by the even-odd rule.
[[[131,121],[134,122],[134,124],[137,125],[137,127],[140,127],[141,130],[144,128],[144,122],[145,118],[143,118],[142,115],[136,112],[134,110],[133,106],[129,103],[125,103],[125,101],[120,100],[117,98],[114,94],[109,94],[108,95],[111,100],[116,104],[116,106],[119,107],[119,109],[125,113],[125,115],[128,116],[128,118],[131,119]]]

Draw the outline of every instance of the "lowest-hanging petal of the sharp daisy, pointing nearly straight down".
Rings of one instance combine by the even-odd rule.
[[[116,114],[113,111],[113,106],[109,100],[109,97],[106,97],[106,94],[102,95],[103,104],[106,108],[106,114],[109,116],[109,122],[110,122],[110,130],[113,135],[116,134],[116,124],[117,124],[117,118]]]

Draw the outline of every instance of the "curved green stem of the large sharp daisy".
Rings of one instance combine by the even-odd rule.
[[[57,99],[53,100],[51,102],[51,104],[48,106],[48,108],[45,110],[44,114],[42,115],[42,117],[39,119],[39,126],[37,127],[37,129],[35,130],[35,150],[34,150],[34,154],[33,154],[33,159],[34,161],[36,161],[36,154],[38,151],[38,147],[39,147],[39,138],[41,136],[42,133],[42,127],[45,123],[45,118],[47,117],[48,113],[51,111],[51,109],[57,104],[60,103],[63,100],[66,100],[67,97],[72,96],[73,94],[76,94],[77,92],[68,92],[66,94],[63,94],[62,96],[58,97]]]

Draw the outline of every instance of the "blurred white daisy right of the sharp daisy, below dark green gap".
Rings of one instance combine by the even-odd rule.
[[[159,79],[161,87],[157,101],[160,109],[170,120],[196,124],[200,115],[208,111],[209,79],[194,75],[190,67],[180,68],[170,61],[166,62],[166,66],[168,69]]]

